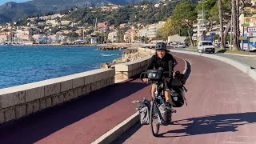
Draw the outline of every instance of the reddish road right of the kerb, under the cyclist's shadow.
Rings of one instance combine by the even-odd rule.
[[[138,124],[113,143],[255,144],[256,82],[225,62],[177,55],[190,62],[188,106],[176,109],[173,125],[160,126],[158,138]]]

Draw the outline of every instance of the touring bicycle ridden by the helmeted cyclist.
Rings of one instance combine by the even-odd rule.
[[[171,66],[171,65],[170,65]],[[171,90],[175,89],[174,85],[174,79],[177,82],[177,76],[176,74],[180,74],[179,71],[175,72],[175,75],[173,76],[173,71],[163,71],[162,68],[158,68],[158,70],[147,70],[146,72],[142,72],[142,74],[140,75],[140,78],[142,79],[142,75],[143,74],[147,74],[147,77],[149,78],[149,82],[148,83],[154,83],[156,85],[156,90],[154,91],[154,98],[152,98],[152,101],[150,102],[150,128],[152,131],[152,134],[157,137],[158,136],[158,132],[160,129],[160,125],[162,126],[167,126],[171,124],[171,118],[172,118],[172,114],[176,113],[176,110],[173,110],[170,106],[170,115],[165,115],[165,118],[169,118],[169,119],[165,119],[162,117],[162,113],[159,110],[159,107],[162,106],[162,104],[166,104],[166,98],[164,96],[164,91],[165,91],[165,86],[167,86],[167,83],[164,82],[163,80],[165,79],[165,77],[163,76],[164,74],[169,74],[169,77],[171,78],[171,82],[172,82],[172,86],[171,86]],[[186,102],[186,98],[185,98],[185,94],[183,93],[184,91],[187,92],[186,87],[183,86],[183,83],[180,82],[180,84],[178,85],[178,87],[180,87],[179,90],[182,90],[182,104],[180,104],[180,106],[182,106],[184,104],[184,102]],[[177,102],[177,94],[171,94],[170,95],[171,99],[173,102]],[[186,103],[187,105],[187,103]],[[174,106],[174,107],[180,107],[180,106]],[[166,106],[168,107],[168,106]]]

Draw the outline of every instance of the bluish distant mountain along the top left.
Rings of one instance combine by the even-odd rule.
[[[126,5],[145,0],[32,0],[29,2],[7,2],[0,6],[0,23],[11,22],[31,14],[58,12],[75,6],[103,6],[109,3]],[[147,0],[158,2],[158,0]]]

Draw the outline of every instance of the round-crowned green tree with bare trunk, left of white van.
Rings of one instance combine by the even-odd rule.
[[[178,22],[178,26],[186,26],[187,34],[190,38],[190,46],[194,46],[192,39],[194,34],[193,23],[196,21],[197,15],[195,6],[191,2],[182,2],[174,9],[174,21]]]

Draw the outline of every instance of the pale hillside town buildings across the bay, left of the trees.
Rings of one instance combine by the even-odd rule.
[[[158,7],[159,4],[155,4]],[[117,10],[122,6],[109,5],[101,6],[102,11]],[[137,7],[137,6],[134,6]],[[146,5],[142,6],[146,9]],[[90,7],[94,11],[94,7]],[[151,25],[143,26],[142,24],[122,23],[119,26],[110,25],[108,22],[95,22],[95,26],[78,26],[79,22],[69,20],[58,20],[66,16],[66,14],[53,14],[40,16],[38,18],[27,18],[26,26],[18,26],[17,22],[9,22],[0,25],[0,43],[8,44],[63,44],[63,43],[90,43],[97,44],[98,37],[95,35],[106,35],[104,42],[118,42],[118,30],[127,29],[122,40],[119,42],[138,42],[138,38],[155,38],[157,30],[163,26],[165,22],[158,22]],[[43,28],[42,28],[43,27]],[[58,30],[52,34],[54,29],[71,29]],[[141,29],[139,29],[141,28]],[[76,29],[74,31],[74,29]],[[89,34],[88,34],[89,32]],[[67,36],[68,34],[74,34]]]

